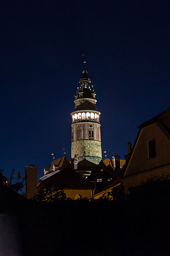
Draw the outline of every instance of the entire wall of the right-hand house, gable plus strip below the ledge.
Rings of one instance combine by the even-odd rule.
[[[156,156],[148,157],[148,141],[155,139]],[[123,179],[125,192],[128,187],[139,184],[149,173],[165,175],[170,173],[170,134],[160,124],[155,123],[141,129]]]

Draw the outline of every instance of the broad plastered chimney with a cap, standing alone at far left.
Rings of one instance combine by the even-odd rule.
[[[27,199],[33,198],[37,193],[37,167],[36,165],[25,166]]]

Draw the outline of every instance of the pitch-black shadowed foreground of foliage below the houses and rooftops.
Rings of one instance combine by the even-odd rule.
[[[169,199],[164,181],[118,201],[24,200],[6,209],[18,216],[23,256],[157,256],[170,255]]]

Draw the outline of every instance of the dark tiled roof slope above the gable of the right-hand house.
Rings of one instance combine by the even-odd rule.
[[[153,118],[149,119],[148,121],[140,124],[138,128],[145,127],[147,125],[156,123],[156,122],[163,122],[169,129],[170,129],[170,108],[163,111],[162,113],[154,116]]]

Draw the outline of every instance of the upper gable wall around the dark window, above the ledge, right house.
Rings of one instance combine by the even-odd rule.
[[[148,141],[155,139],[156,157],[148,159]],[[159,124],[142,128],[124,176],[170,162],[170,135]]]

